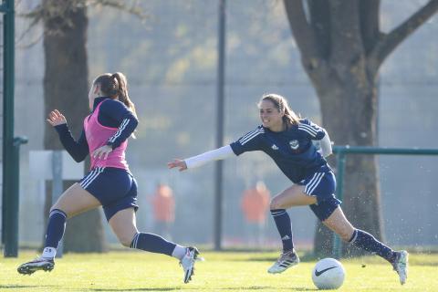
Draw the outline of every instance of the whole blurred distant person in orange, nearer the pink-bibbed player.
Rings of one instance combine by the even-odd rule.
[[[172,189],[163,183],[159,183],[151,198],[154,232],[166,238],[172,238],[171,226],[175,220],[175,200]]]

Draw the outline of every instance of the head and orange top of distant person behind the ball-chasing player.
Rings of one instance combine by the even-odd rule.
[[[242,197],[242,211],[248,223],[264,224],[271,194],[265,183],[257,182],[255,188],[248,189]]]

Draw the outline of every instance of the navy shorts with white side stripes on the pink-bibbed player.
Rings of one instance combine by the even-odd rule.
[[[80,180],[80,186],[102,204],[109,221],[120,210],[139,208],[137,182],[130,172],[114,167],[97,167]]]

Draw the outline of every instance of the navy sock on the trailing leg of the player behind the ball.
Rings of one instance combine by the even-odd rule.
[[[389,262],[392,262],[395,258],[395,253],[390,247],[383,245],[374,236],[360,229],[354,230],[349,243],[360,249],[380,255]]]

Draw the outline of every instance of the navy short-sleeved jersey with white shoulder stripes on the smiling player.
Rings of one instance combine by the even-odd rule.
[[[230,146],[235,155],[246,151],[266,152],[289,180],[299,183],[315,172],[330,171],[326,160],[312,143],[325,135],[324,129],[303,119],[280,132],[258,126]]]

